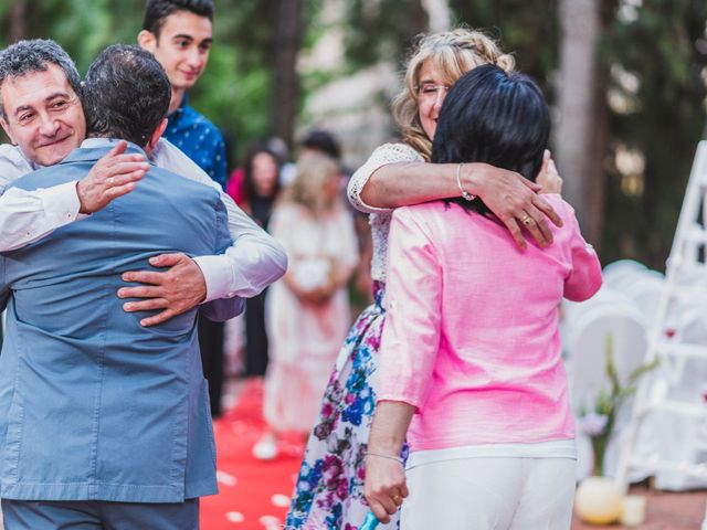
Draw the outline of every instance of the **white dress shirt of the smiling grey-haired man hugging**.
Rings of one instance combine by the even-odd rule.
[[[82,147],[95,147],[105,141],[113,140],[89,138]],[[233,245],[222,255],[194,257],[207,283],[204,301],[255,296],[285,274],[287,256],[282,245],[255,224],[187,155],[160,139],[151,162],[211,186],[221,193],[229,213]],[[0,252],[20,248],[86,216],[78,213],[77,181],[35,191],[17,188],[4,191],[14,179],[35,169],[39,166],[24,158],[19,147],[0,146]]]

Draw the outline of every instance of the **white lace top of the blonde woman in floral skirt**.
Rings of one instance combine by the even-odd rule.
[[[388,163],[422,162],[422,156],[405,144],[383,144],[377,148],[363,166],[351,176],[348,187],[349,201],[357,210],[370,213],[371,237],[373,239],[373,257],[371,259],[371,277],[386,282],[386,255],[388,254],[388,232],[392,210],[373,208],[363,202],[361,190],[373,172]]]

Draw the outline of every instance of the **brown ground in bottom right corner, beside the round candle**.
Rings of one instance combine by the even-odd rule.
[[[644,524],[639,527],[623,527],[612,524],[609,527],[591,527],[572,521],[572,530],[597,530],[608,528],[611,530],[700,530],[707,506],[707,491],[664,492],[652,491],[645,487],[631,489],[634,495],[647,497],[647,513]],[[706,527],[707,528],[707,527]]]

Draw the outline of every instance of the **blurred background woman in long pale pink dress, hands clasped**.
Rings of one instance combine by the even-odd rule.
[[[303,155],[271,220],[289,269],[273,284],[266,303],[270,364],[263,413],[270,430],[253,447],[261,459],[276,456],[277,433],[304,435],[312,428],[351,321],[346,284],[358,264],[358,243],[339,182],[334,160]]]

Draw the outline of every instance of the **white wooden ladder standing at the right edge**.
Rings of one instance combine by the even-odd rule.
[[[707,479],[707,462],[695,462],[690,455],[675,460],[658,454],[636,454],[641,427],[646,418],[658,422],[653,425],[659,425],[661,430],[671,430],[669,418],[676,415],[688,418],[694,427],[689,430],[689,446],[701,451],[700,454],[707,451],[707,403],[701,392],[696,391],[694,399],[687,401],[674,399],[671,392],[679,388],[688,360],[704,361],[707,367],[707,344],[689,343],[680,332],[679,321],[679,315],[686,307],[700,301],[707,306],[706,223],[707,140],[704,140],[697,146],[667,261],[665,285],[648,331],[646,362],[658,359],[659,365],[640,380],[629,425],[621,439],[616,481],[625,489],[631,473],[651,476],[669,470],[680,476]],[[698,453],[692,456],[695,454]],[[707,530],[707,511],[703,530]]]

